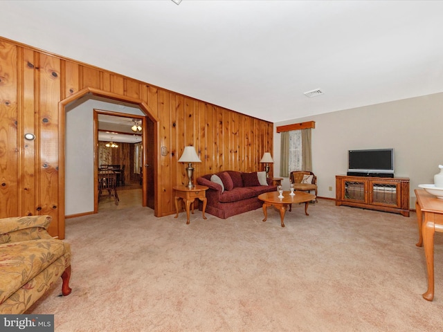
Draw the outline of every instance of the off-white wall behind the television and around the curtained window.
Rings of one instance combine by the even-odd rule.
[[[415,208],[417,185],[433,183],[443,165],[443,93],[276,122],[274,127],[311,120],[316,122],[312,167],[318,196],[335,198],[335,176],[346,174],[350,149],[394,148],[395,176],[410,178],[410,208]],[[280,177],[280,133],[274,133],[273,142],[273,175]],[[283,184],[289,187],[289,179]]]

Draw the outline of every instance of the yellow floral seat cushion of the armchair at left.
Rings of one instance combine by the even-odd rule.
[[[0,244],[0,304],[64,255],[65,246],[55,239]]]

